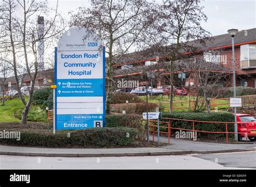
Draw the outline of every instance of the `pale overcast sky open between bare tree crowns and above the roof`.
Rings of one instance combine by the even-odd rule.
[[[161,1],[161,0],[156,0]],[[51,6],[56,6],[56,0],[50,0]],[[256,27],[256,0],[205,0],[201,2],[208,17],[207,23],[202,23],[212,35],[225,34],[230,28],[246,30]],[[59,11],[69,21],[68,12],[79,6],[90,6],[89,0],[59,0]]]

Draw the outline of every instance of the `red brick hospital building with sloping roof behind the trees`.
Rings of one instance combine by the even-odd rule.
[[[237,86],[256,88],[256,28],[250,30],[242,30],[234,37],[235,42],[235,74]],[[196,41],[186,42],[187,44],[198,45],[201,51],[194,53],[196,56],[203,57],[206,62],[217,63],[219,66],[227,68],[226,73],[230,74],[228,79],[229,85],[232,86],[232,46],[231,37],[229,34],[222,34],[212,37],[211,41],[206,41],[206,46],[200,46]],[[207,51],[205,51],[207,49]],[[214,53],[217,51],[218,53]],[[189,51],[184,51],[184,55],[190,54]],[[135,57],[136,56],[136,57]],[[139,57],[138,57],[139,56]],[[193,59],[193,54],[188,57]],[[174,63],[174,80],[177,80],[177,86],[190,84],[193,82],[192,74],[193,67],[187,67],[186,62],[183,63],[183,68],[175,67],[175,64],[180,65],[180,61]],[[114,80],[139,80],[140,85],[147,83],[143,79],[144,74],[148,71],[158,73],[157,77],[153,78],[153,86],[169,84],[170,73],[168,71],[168,60],[166,57],[151,52],[144,53],[144,55],[137,55],[135,53],[127,54],[117,64],[114,64]],[[218,72],[218,67],[213,69]],[[185,73],[184,82],[180,84],[178,74]],[[36,86],[45,86],[53,84],[54,69],[48,69],[38,72],[36,79]],[[15,78],[9,77],[5,81],[5,91],[15,89]],[[30,85],[30,79],[24,75],[22,78],[22,85]]]

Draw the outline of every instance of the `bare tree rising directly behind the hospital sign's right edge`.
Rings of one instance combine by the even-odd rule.
[[[89,28],[99,35],[106,46],[107,114],[110,114],[113,91],[113,64],[143,42],[145,31],[153,23],[153,9],[153,5],[146,0],[91,0],[90,8],[80,7],[77,13],[72,14],[71,26]]]

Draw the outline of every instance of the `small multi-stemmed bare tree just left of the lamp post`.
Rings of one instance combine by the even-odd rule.
[[[194,60],[187,60],[188,66],[193,69],[190,79],[194,85],[190,86],[190,101],[193,103],[193,111],[207,110],[210,113],[210,106],[213,99],[218,97],[220,88],[228,86],[228,77],[231,69],[223,66],[220,61],[220,50],[211,51],[214,58],[206,60],[204,56],[194,56]],[[224,62],[225,63],[225,62]]]

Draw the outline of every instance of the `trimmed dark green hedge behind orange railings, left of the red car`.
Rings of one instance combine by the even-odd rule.
[[[188,119],[188,120],[197,120],[197,121],[223,121],[223,122],[234,122],[234,115],[228,112],[173,112],[173,113],[163,113],[163,118],[175,118],[175,119]],[[169,121],[167,119],[161,119],[161,121]],[[225,124],[215,124],[215,123],[194,123],[195,129],[199,131],[215,131],[215,132],[225,132]],[[161,126],[167,126],[167,124],[161,124]],[[171,120],[171,127],[176,128],[186,128],[193,129],[191,121],[179,121]],[[161,129],[160,131],[167,131],[166,128]],[[176,131],[172,130],[172,134],[175,134]],[[228,124],[228,132],[234,132],[234,125]],[[220,136],[223,137],[225,134],[213,134],[213,133],[197,133],[198,138],[205,136]],[[229,134],[229,137],[233,137],[233,134]]]

